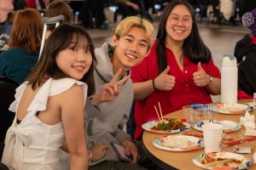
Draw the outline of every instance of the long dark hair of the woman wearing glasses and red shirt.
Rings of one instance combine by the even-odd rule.
[[[192,31],[183,42],[183,54],[189,57],[189,59],[197,64],[201,61],[201,63],[207,63],[210,59],[212,59],[212,54],[202,41],[196,20],[195,20],[195,10],[185,0],[173,0],[169,3],[160,19],[159,30],[157,33],[157,46],[156,46],[156,55],[158,62],[158,71],[159,74],[166,69],[167,66],[167,58],[166,58],[166,20],[168,20],[169,14],[172,12],[172,9],[177,5],[185,5],[189,8],[193,23],[192,23]]]

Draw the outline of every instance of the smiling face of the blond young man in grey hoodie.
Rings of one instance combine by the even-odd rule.
[[[119,39],[113,36],[114,53],[113,67],[129,70],[142,62],[149,53],[146,32],[143,28],[132,26],[131,29]],[[115,69],[115,68],[113,68]]]

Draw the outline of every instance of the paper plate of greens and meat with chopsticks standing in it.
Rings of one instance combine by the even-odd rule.
[[[181,119],[165,118],[163,121],[150,121],[142,125],[144,130],[152,133],[169,134],[180,133],[190,128],[189,123],[182,122]]]

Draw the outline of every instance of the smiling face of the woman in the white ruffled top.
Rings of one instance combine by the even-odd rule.
[[[90,52],[91,49],[87,43],[72,42],[67,48],[57,54],[56,63],[68,77],[80,80],[90,69],[92,62]]]

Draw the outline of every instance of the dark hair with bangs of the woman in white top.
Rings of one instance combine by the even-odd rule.
[[[52,77],[54,79],[61,79],[67,77],[61,71],[56,63],[56,55],[63,49],[67,48],[72,42],[87,42],[90,46],[92,63],[89,71],[84,74],[84,77],[79,80],[86,82],[88,85],[88,96],[95,92],[94,82],[94,63],[96,62],[96,55],[94,53],[94,46],[90,35],[82,26],[73,24],[61,24],[49,35],[45,42],[42,56],[38,60],[38,65],[33,69],[31,75],[27,77],[29,84],[32,84],[32,89],[37,88],[45,79]]]

